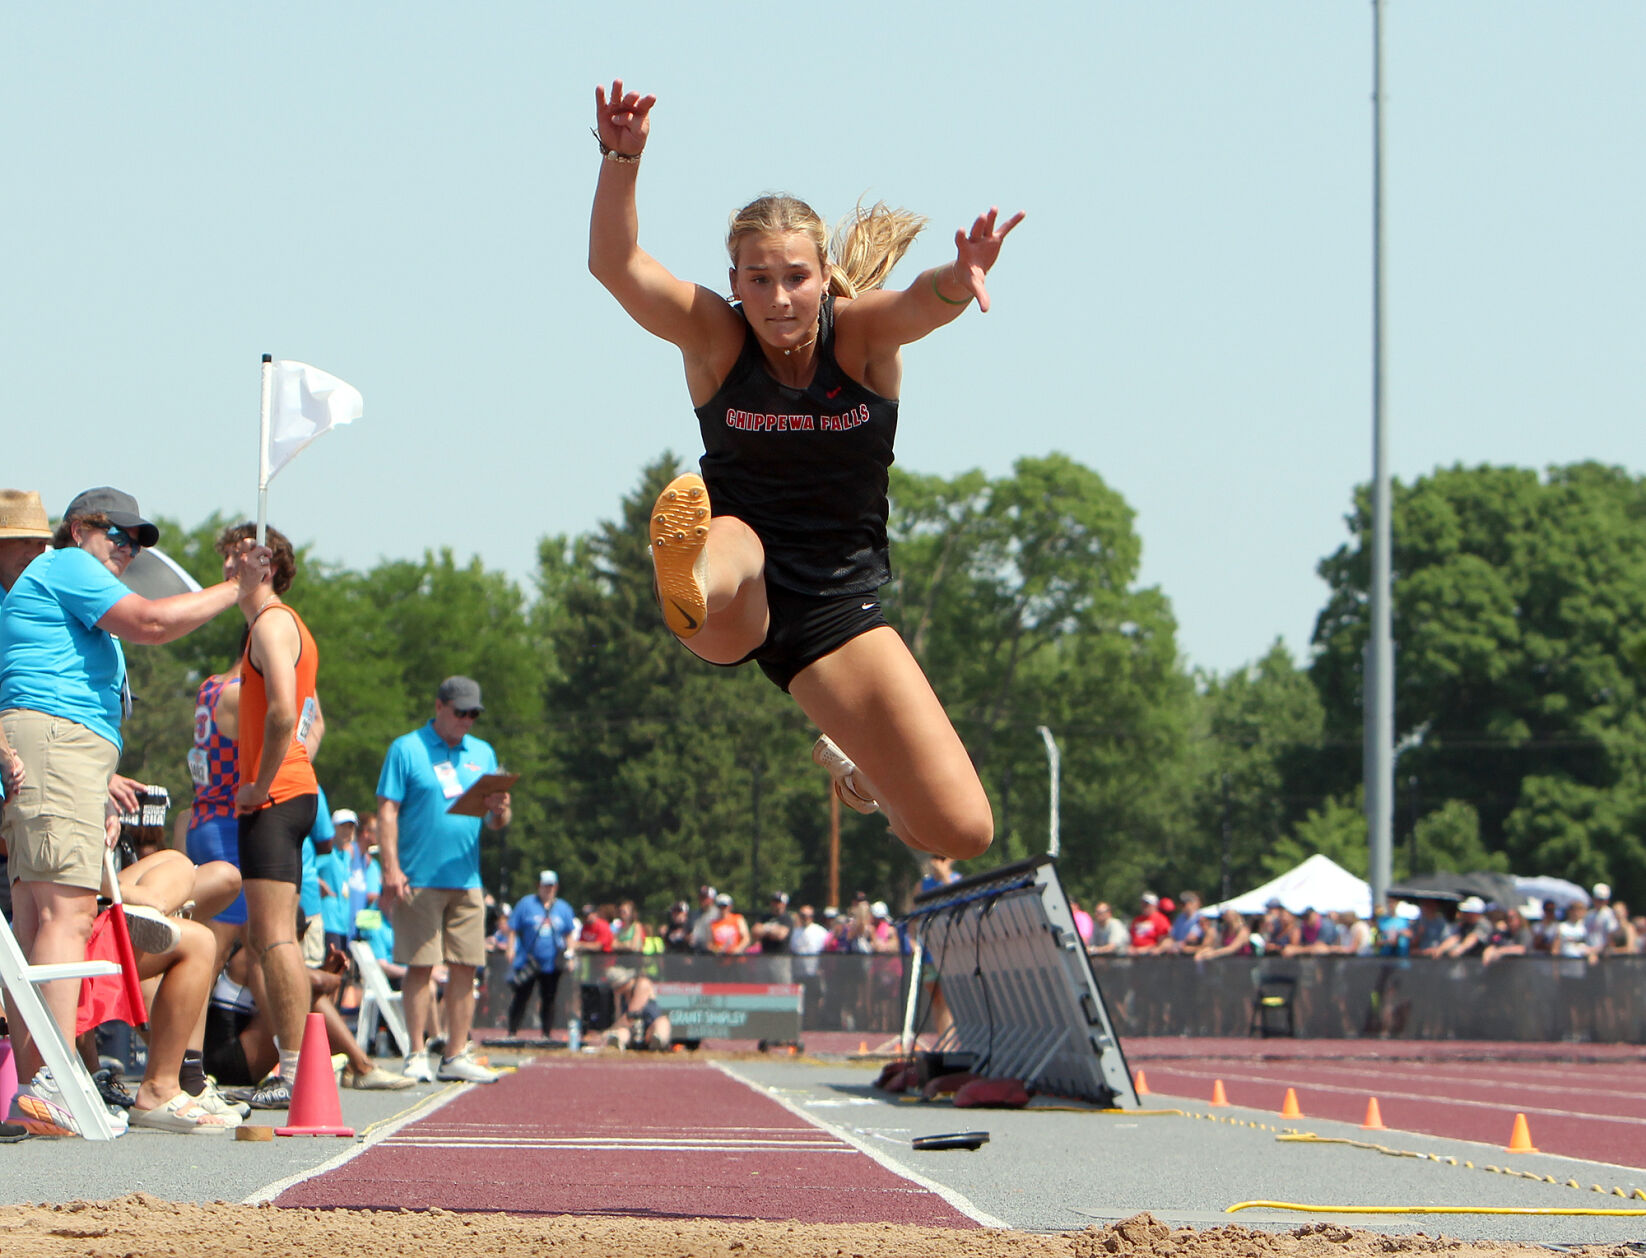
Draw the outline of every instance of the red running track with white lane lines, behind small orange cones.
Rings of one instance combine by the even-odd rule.
[[[1251,1046],[1220,1041],[1216,1047],[1205,1042],[1200,1054],[1193,1051],[1197,1044],[1202,1042],[1177,1041],[1167,1047],[1164,1041],[1149,1041],[1151,1047],[1128,1046],[1128,1055],[1132,1070],[1146,1072],[1151,1093],[1162,1102],[1182,1098],[1195,1108],[1207,1107],[1213,1082],[1221,1079],[1230,1105],[1279,1113],[1286,1088],[1295,1088],[1305,1120],[1358,1126],[1366,1118],[1368,1098],[1376,1097],[1391,1131],[1452,1136],[1500,1149],[1509,1143],[1514,1115],[1524,1113],[1541,1153],[1646,1167],[1646,1062],[1638,1059],[1638,1047],[1606,1054],[1588,1052],[1593,1046],[1565,1046],[1572,1059],[1551,1052],[1539,1059],[1516,1052],[1526,1046],[1481,1046],[1476,1057],[1463,1046],[1435,1052],[1444,1046],[1425,1044],[1416,1047],[1434,1055],[1419,1059],[1407,1052],[1361,1055],[1366,1041],[1294,1042],[1286,1049],[1274,1041]],[[1159,1049],[1151,1051],[1154,1046]],[[1341,1054],[1337,1059],[1333,1046]],[[1366,1138],[1388,1139],[1376,1131]]]

